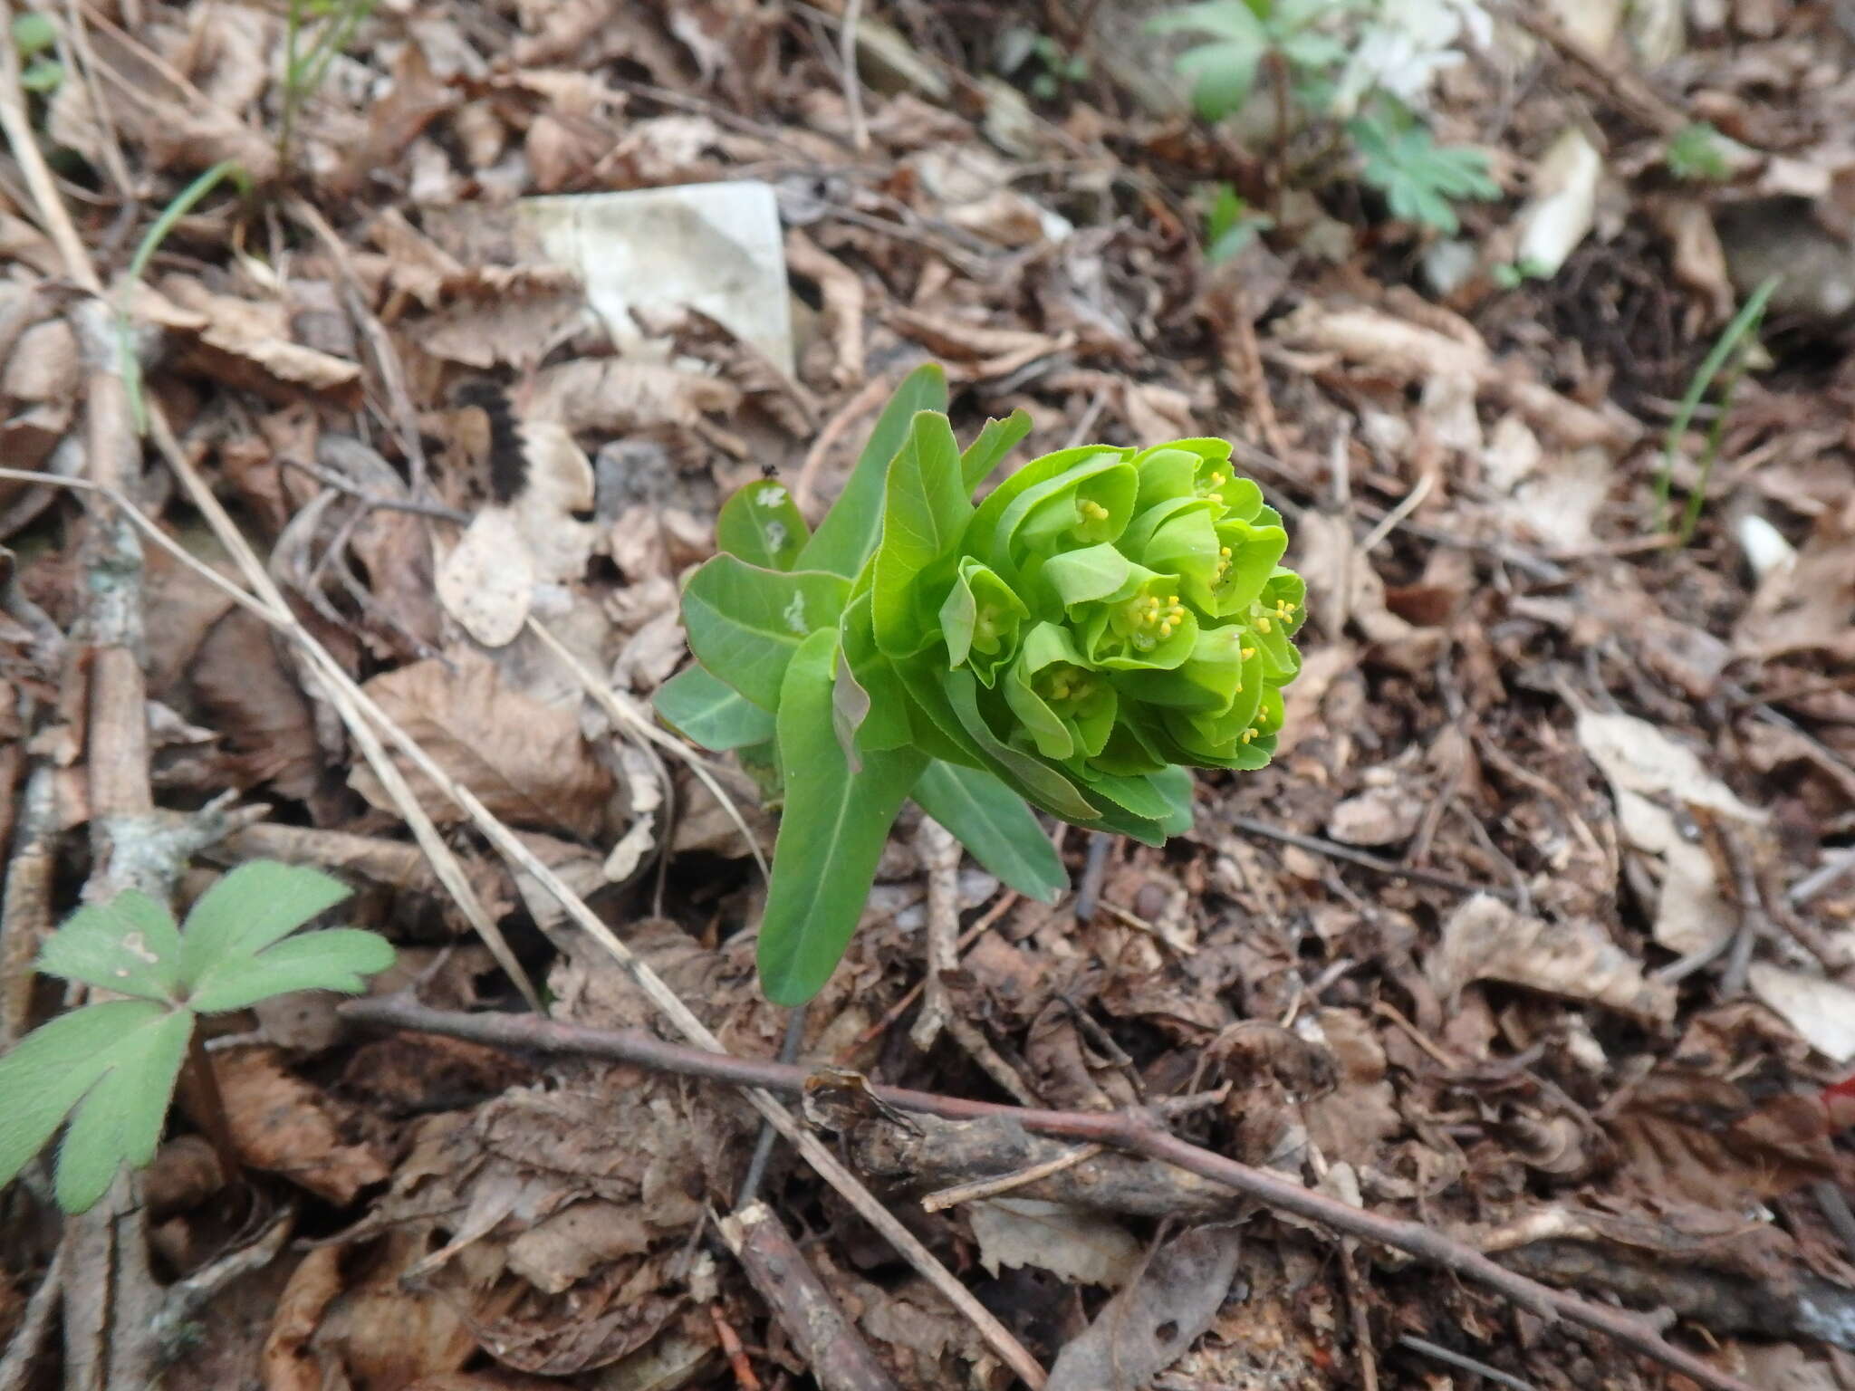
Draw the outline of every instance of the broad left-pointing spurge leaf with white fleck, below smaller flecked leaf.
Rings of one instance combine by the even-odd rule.
[[[848,599],[842,575],[781,573],[718,555],[683,590],[683,625],[709,671],[774,710],[792,653],[811,632],[837,623]]]

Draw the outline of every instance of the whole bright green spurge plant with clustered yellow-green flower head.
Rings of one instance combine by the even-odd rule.
[[[1030,807],[1161,844],[1189,766],[1269,762],[1300,666],[1287,532],[1228,443],[1063,449],[974,504],[1030,417],[961,449],[944,406],[939,367],[911,375],[816,532],[777,482],[738,491],[683,593],[699,664],[659,712],[785,790],[759,942],[779,1003],[831,976],[907,798],[1050,898]]]

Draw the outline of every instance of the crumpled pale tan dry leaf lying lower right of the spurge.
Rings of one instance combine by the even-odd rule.
[[[1590,1000],[1623,1015],[1668,1024],[1675,987],[1644,976],[1595,922],[1529,918],[1490,894],[1458,907],[1428,961],[1430,983],[1454,996],[1471,981],[1504,981],[1532,990]]]

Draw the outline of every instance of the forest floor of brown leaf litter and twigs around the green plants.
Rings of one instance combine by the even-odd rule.
[[[1827,2],[1525,11],[1425,95],[1501,193],[1451,236],[1286,98],[1260,134],[1167,109],[1111,4],[15,4],[0,1046],[61,1007],[37,942],[150,818],[198,848],[178,901],[315,864],[399,964],[367,1020],[211,1020],[241,1176],[182,1104],[109,1222],[43,1174],[0,1198],[0,1391],[801,1387],[831,1309],[824,1384],[859,1391],[1028,1361],[1055,1391],[1855,1391],[1855,39]],[[518,213],[723,182],[738,239],[588,223],[581,273]],[[712,299],[646,302],[690,265]],[[748,840],[640,731],[718,501],[770,475],[816,516],[929,360],[963,438],[1030,410],[1024,456],[1235,441],[1308,581],[1304,670],[1274,762],[1200,777],[1189,835],[1057,829],[1054,907],[903,816],[807,1016],[814,1139],[761,1185],[800,1256],[744,1263],[746,1094],[542,1052],[523,990],[777,1053]],[[486,386],[584,458],[555,432],[492,469]],[[714,777],[770,851],[755,783]],[[506,1037],[456,1037],[471,1011]],[[1328,1202],[902,1120],[844,1070],[1158,1107]]]

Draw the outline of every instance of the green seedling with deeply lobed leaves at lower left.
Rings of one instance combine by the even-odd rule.
[[[135,888],[70,914],[46,938],[39,970],[128,998],[61,1015],[0,1057],[0,1185],[63,1124],[54,1191],[65,1211],[85,1211],[121,1165],[154,1159],[200,1015],[289,990],[358,994],[365,976],[391,966],[393,948],[375,933],[291,937],[347,896],[326,874],[256,861],[208,888],[186,929]]]

